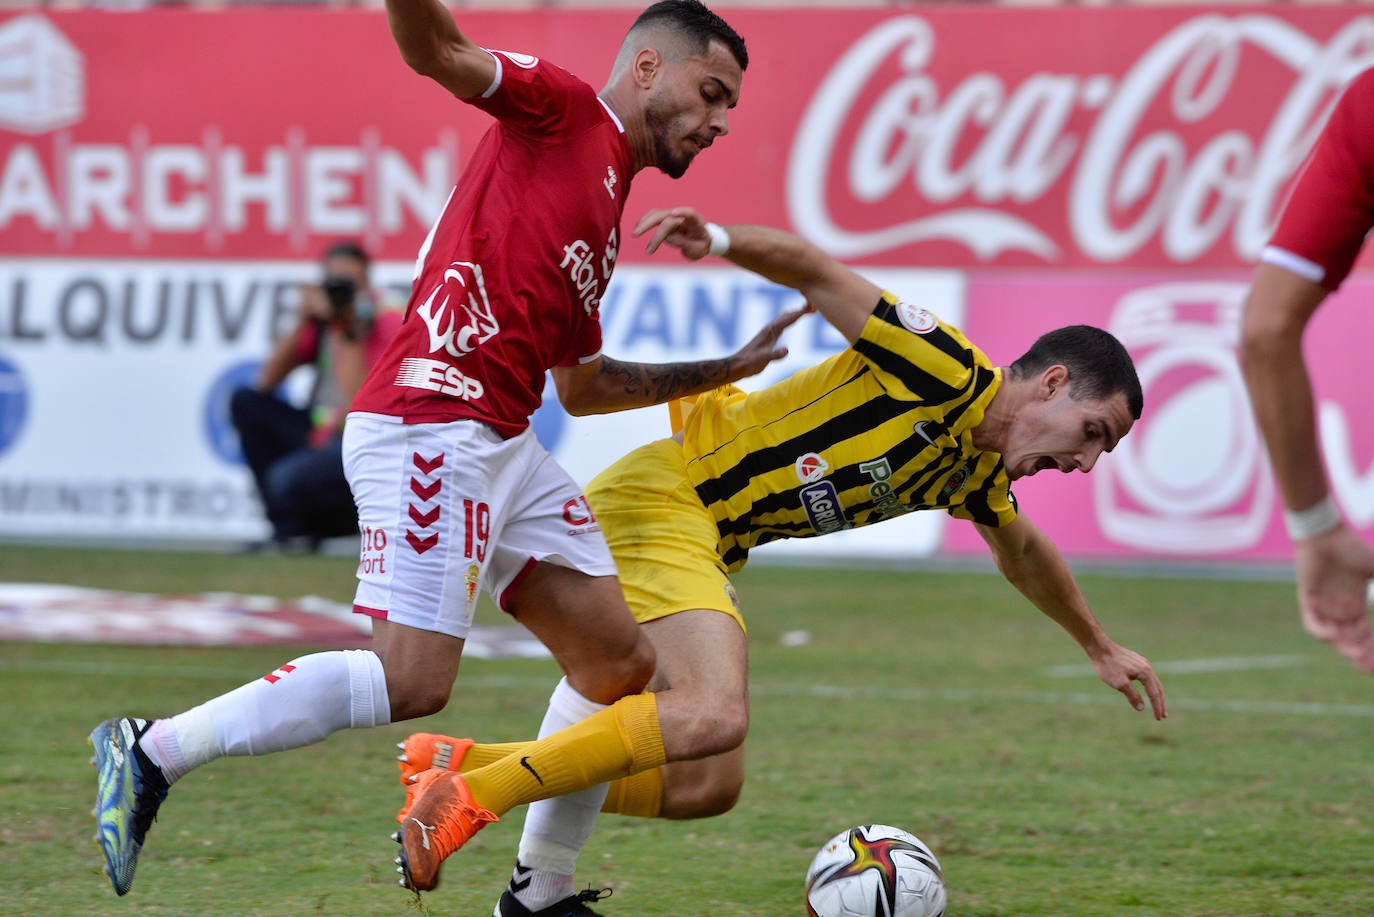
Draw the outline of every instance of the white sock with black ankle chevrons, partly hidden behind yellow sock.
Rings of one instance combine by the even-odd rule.
[[[539,737],[551,736],[600,709],[606,705],[587,700],[565,678],[548,698]],[[511,877],[511,894],[522,905],[539,910],[573,894],[577,855],[596,828],[596,815],[606,802],[607,789],[609,784],[599,784],[529,804]]]

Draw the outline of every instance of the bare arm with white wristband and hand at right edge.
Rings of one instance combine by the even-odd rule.
[[[1260,264],[1241,320],[1241,368],[1283,503],[1297,525],[1293,546],[1303,627],[1374,672],[1366,608],[1374,551],[1329,502],[1312,382],[1303,360],[1303,331],[1325,298],[1325,287]]]

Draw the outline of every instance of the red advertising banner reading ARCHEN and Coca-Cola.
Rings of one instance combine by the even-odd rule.
[[[1252,263],[1333,95],[1352,7],[728,10],[732,129],[631,203],[790,227],[872,264]],[[470,12],[480,44],[599,87],[633,11]],[[0,19],[0,250],[409,258],[485,115],[381,12]],[[628,246],[627,258],[640,257]]]

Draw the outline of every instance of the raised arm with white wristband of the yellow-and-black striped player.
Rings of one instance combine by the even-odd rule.
[[[682,250],[683,257],[698,261],[712,254],[712,230],[691,208],[650,210],[635,224],[635,235],[651,231],[650,253],[661,245]],[[805,239],[767,225],[714,227],[728,236],[728,247],[716,254],[746,271],[798,290],[827,322],[853,344],[864,322],[878,305],[882,289],[859,276]]]

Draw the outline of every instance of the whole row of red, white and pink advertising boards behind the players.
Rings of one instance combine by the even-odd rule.
[[[109,5],[109,4],[104,4]],[[0,535],[264,533],[225,399],[291,320],[333,241],[403,297],[488,126],[400,60],[376,10],[0,12]],[[633,12],[471,8],[486,47],[600,85]],[[640,5],[640,4],[632,4]],[[1091,476],[1017,496],[1073,557],[1271,562],[1290,551],[1235,366],[1252,265],[1329,106],[1374,65],[1348,5],[730,5],[752,63],[731,132],[679,181],[633,180],[627,221],[690,203],[787,227],[963,326],[998,363],[1090,323],[1131,349],[1146,412]],[[1374,527],[1374,272],[1308,342],[1342,510]],[[730,353],[793,296],[633,239],[600,302],[606,352]],[[789,359],[844,341],[819,319]],[[666,412],[534,429],[580,480]],[[768,551],[985,555],[915,513]]]

